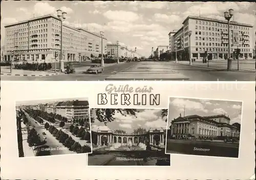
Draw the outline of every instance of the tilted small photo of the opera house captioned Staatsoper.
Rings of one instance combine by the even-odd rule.
[[[239,158],[242,101],[170,97],[166,153]]]

